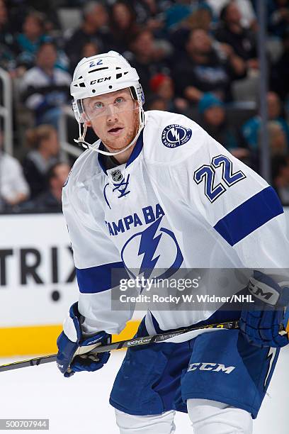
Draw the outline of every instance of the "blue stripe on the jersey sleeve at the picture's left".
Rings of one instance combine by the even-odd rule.
[[[111,262],[111,264],[99,265],[98,267],[77,268],[77,283],[79,291],[83,294],[106,291],[119,285],[120,279],[128,278],[123,262]]]

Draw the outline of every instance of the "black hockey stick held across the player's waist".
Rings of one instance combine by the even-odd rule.
[[[112,350],[121,350],[122,348],[138,347],[140,345],[147,345],[149,343],[164,342],[167,339],[175,338],[176,336],[183,335],[184,333],[188,333],[194,330],[202,330],[203,328],[225,328],[225,329],[232,330],[232,329],[239,328],[239,321],[235,320],[235,321],[228,321],[227,323],[208,324],[208,325],[201,325],[197,327],[187,327],[181,330],[176,330],[174,332],[160,333],[159,335],[141,336],[140,338],[120,340],[118,342],[111,343],[108,345],[100,345],[99,347],[96,347],[94,350],[91,350],[89,352],[92,353],[106,352]],[[285,329],[282,328],[282,330]],[[10,371],[11,369],[18,369],[22,367],[42,365],[42,363],[55,362],[56,357],[57,357],[56,354],[52,354],[52,355],[47,355],[42,357],[36,357],[35,359],[21,360],[20,362],[7,363],[6,365],[0,365],[0,372]]]

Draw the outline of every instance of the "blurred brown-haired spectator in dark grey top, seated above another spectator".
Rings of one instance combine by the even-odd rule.
[[[46,188],[47,171],[59,162],[60,145],[55,128],[40,125],[26,133],[32,150],[23,160],[23,171],[30,187],[31,199],[35,199]]]

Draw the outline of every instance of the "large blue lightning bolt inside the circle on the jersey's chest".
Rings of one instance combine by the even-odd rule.
[[[144,273],[144,277],[146,279],[148,279],[152,274],[152,270],[159,259],[159,255],[154,259],[152,258],[154,257],[154,253],[156,252],[157,246],[159,245],[159,240],[162,238],[162,233],[155,237],[161,220],[162,217],[159,217],[151,226],[144,230],[141,235],[138,256],[144,256],[142,258],[142,265],[140,266],[140,274]]]

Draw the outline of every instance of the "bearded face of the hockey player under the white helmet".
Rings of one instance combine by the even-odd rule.
[[[132,99],[130,89],[111,92],[83,101],[86,125],[111,152],[124,149],[137,135],[139,105]]]

